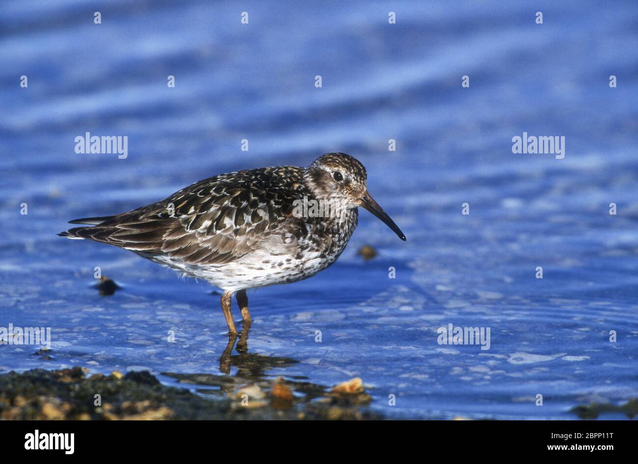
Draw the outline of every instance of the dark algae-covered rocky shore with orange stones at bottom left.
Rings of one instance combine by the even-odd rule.
[[[212,374],[177,375],[180,381],[219,386],[224,395],[198,395],[168,387],[149,372],[90,374],[79,367],[35,369],[0,375],[0,419],[167,420],[167,419],[336,419],[383,417],[362,409],[369,402],[361,379],[327,391],[310,382],[272,381]],[[227,379],[221,381],[221,378]],[[228,379],[231,379],[230,381]],[[293,392],[296,393],[293,394]]]

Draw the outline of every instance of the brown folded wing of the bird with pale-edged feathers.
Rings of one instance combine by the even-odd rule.
[[[190,264],[223,264],[278,231],[302,198],[303,168],[285,166],[211,177],[158,203],[63,233]]]

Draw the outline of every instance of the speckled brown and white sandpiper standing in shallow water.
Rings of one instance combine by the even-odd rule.
[[[345,153],[327,153],[307,168],[274,166],[200,180],[144,207],[69,221],[59,233],[137,253],[223,290],[229,335],[235,295],[250,326],[246,291],[308,279],[328,268],[357,226],[359,207],[406,237],[367,191],[366,168]]]

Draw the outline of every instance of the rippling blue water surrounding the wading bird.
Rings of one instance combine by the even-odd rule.
[[[635,1],[15,0],[0,23],[0,326],[53,340],[49,360],[0,346],[0,372],[218,375],[211,287],[56,233],[211,175],[342,151],[408,241],[362,211],[329,270],[249,293],[248,351],[299,361],[265,377],[359,376],[390,417],[575,419],[575,405],[638,396]],[[128,157],[76,154],[86,131],[128,136]],[[565,158],[512,154],[523,132],[565,136]],[[100,296],[94,266],[123,288]],[[438,344],[450,323],[489,327],[489,350]]]

